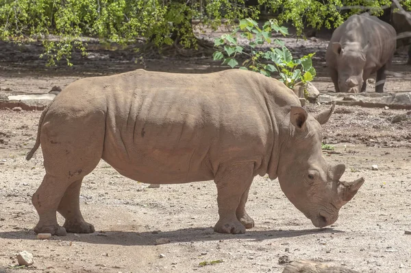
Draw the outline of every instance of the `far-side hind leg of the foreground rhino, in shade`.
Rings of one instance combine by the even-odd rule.
[[[63,227],[69,233],[94,233],[95,228],[92,224],[84,221],[82,212],[80,211],[80,188],[82,180],[75,180],[64,192],[62,200],[58,205],[58,212],[66,219]]]

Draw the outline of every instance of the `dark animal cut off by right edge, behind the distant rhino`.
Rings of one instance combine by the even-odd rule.
[[[397,32],[397,49],[408,46],[407,64],[411,64],[411,12],[399,10],[397,5],[393,3],[391,5],[390,21]]]

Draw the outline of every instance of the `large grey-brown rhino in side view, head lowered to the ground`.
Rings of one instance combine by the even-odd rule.
[[[282,82],[233,69],[179,74],[130,71],[77,80],[40,116],[32,158],[41,143],[45,177],[32,202],[36,233],[92,233],[79,209],[84,176],[102,158],[120,174],[155,184],[214,180],[219,233],[245,233],[254,176],[278,177],[288,199],[316,227],[333,224],[363,178],[340,181],[329,166],[321,124]],[[64,218],[59,226],[56,211]]]

